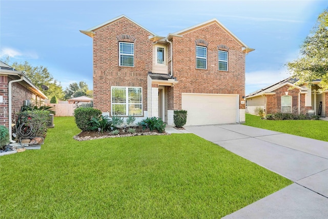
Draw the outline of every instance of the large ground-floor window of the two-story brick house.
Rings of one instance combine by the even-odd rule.
[[[112,115],[142,115],[142,88],[112,87]]]

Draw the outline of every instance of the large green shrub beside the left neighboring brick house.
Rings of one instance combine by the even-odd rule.
[[[26,135],[26,128],[31,132],[28,136],[45,137],[47,126],[50,119],[50,112],[47,110],[27,110],[19,113],[18,135],[23,137]],[[25,130],[24,130],[25,129]]]

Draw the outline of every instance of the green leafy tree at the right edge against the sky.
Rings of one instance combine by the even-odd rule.
[[[298,78],[297,85],[308,84],[321,79],[318,91],[328,89],[328,11],[322,12],[310,35],[305,38],[301,56],[287,64],[292,76]]]

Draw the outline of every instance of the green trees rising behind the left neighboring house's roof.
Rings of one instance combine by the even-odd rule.
[[[24,71],[28,79],[40,90],[42,91],[48,99],[52,96],[57,96],[59,99],[64,98],[63,87],[61,87],[60,82],[53,78],[53,76],[48,71],[47,67],[37,66],[33,67],[30,63],[25,61],[24,63],[10,63],[10,58],[6,58],[6,64],[10,65],[17,71]],[[49,89],[44,90],[41,86],[46,85]]]

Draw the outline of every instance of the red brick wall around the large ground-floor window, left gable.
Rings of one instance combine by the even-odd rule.
[[[151,33],[124,17],[94,32],[94,107],[111,112],[111,86],[131,86],[142,87],[142,110],[147,110],[147,76],[152,70],[152,42],[148,39]],[[119,42],[134,42],[134,67],[119,66]]]

